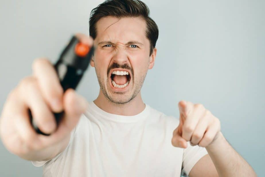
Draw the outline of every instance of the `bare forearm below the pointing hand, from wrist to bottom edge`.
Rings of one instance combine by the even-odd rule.
[[[221,132],[219,132],[218,138],[206,147],[206,150],[215,165],[219,177],[257,176],[248,162],[229,145]]]

